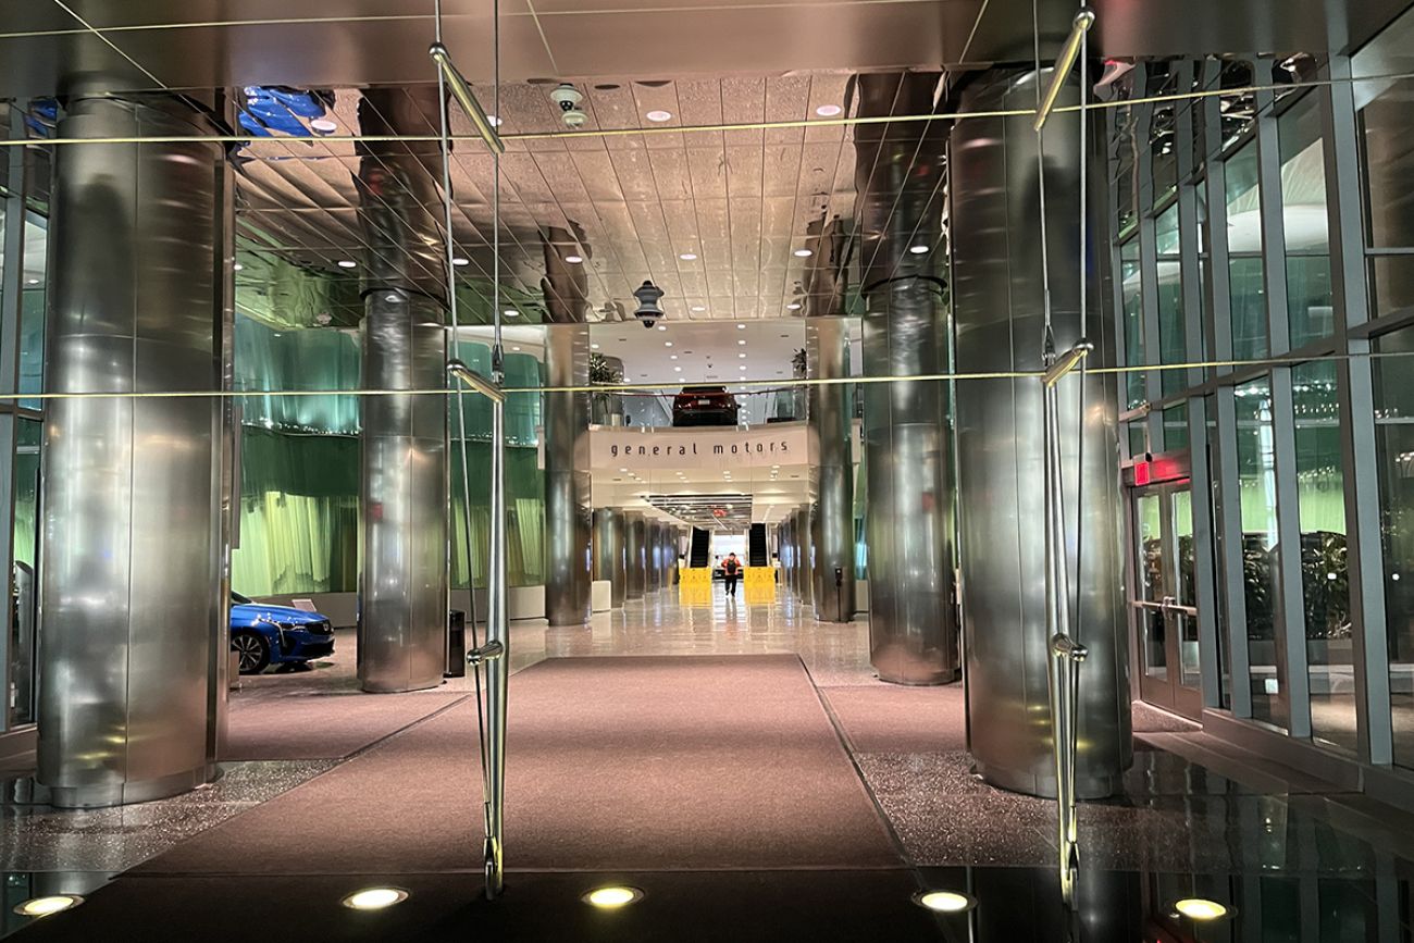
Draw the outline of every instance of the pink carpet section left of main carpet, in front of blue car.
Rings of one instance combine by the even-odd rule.
[[[230,698],[222,759],[342,759],[465,694]]]

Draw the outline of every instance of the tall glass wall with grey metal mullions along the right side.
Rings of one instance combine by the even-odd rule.
[[[1352,57],[1140,64],[1110,119],[1123,438],[1193,469],[1196,664],[1181,643],[1164,670],[1391,775],[1414,771],[1414,83],[1372,76],[1411,41],[1414,11]],[[1138,100],[1159,88],[1217,93]]]

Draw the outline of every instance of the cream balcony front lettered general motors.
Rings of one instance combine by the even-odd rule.
[[[805,464],[809,458],[805,423],[737,427],[590,430],[594,468],[754,468]]]

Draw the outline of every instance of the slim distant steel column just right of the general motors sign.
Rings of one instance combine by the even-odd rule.
[[[812,379],[850,375],[844,318],[806,320]],[[809,387],[810,476],[816,493],[810,540],[816,549],[814,612],[822,622],[854,619],[854,461],[850,458],[850,387]]]

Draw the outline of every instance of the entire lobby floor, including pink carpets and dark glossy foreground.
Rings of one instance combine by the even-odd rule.
[[[1414,823],[1144,705],[1124,795],[1082,807],[1072,927],[1053,804],[971,775],[960,686],[882,684],[867,622],[720,588],[513,626],[509,891],[481,902],[471,679],[365,696],[354,655],[341,633],[314,670],[245,679],[226,776],[188,796],[59,812],[16,771],[0,929],[65,889],[89,901],[23,937],[1414,939]],[[643,901],[591,912],[580,895],[608,881]],[[369,884],[411,896],[338,906]],[[939,886],[978,906],[911,902]],[[1237,916],[1175,919],[1195,894]]]

